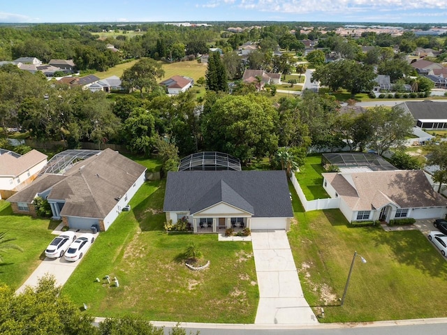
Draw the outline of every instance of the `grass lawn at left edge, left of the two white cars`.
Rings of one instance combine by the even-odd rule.
[[[10,243],[20,246],[23,252],[8,249],[2,253],[0,283],[17,289],[45,258],[45,248],[54,238],[52,230],[60,221],[15,215],[10,203],[0,200],[0,232],[6,239],[16,238]]]

